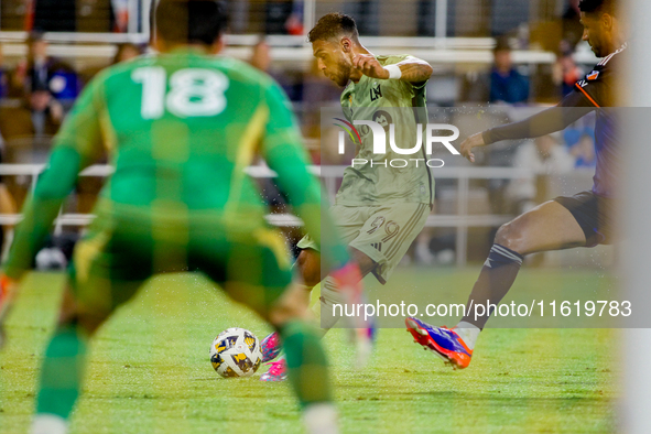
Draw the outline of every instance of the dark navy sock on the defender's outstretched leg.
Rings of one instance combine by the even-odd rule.
[[[520,253],[500,245],[492,245],[488,259],[484,262],[479,279],[473,286],[473,292],[466,305],[466,316],[462,321],[484,328],[490,314],[499,302],[507,295],[522,265]],[[486,314],[475,318],[476,305],[484,305]],[[488,305],[491,305],[487,307]]]

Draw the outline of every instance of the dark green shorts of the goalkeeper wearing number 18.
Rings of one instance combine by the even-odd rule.
[[[292,281],[282,234],[220,227],[199,218],[98,217],[75,247],[69,268],[78,312],[108,316],[150,276],[203,272],[228,295],[265,315]],[[250,228],[248,228],[250,229]]]

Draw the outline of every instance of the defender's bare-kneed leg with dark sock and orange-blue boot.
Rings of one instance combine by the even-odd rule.
[[[586,246],[586,232],[569,209],[556,200],[503,225],[466,304],[466,316],[453,328],[431,326],[417,318],[405,319],[414,341],[431,349],[453,368],[467,368],[479,333],[492,314],[475,317],[473,305],[498,305],[520,271],[524,256],[541,251]]]

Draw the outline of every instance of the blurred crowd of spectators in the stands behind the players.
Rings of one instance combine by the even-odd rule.
[[[339,10],[354,15],[362,44],[365,40],[372,41],[369,48],[376,54],[392,54],[397,50],[411,53],[410,41],[417,42],[414,51],[430,53],[425,59],[435,69],[427,87],[433,109],[491,105],[501,121],[521,119],[531,113],[532,107],[560,100],[596,63],[589,48],[581,42],[578,0],[234,0],[229,4],[231,34],[250,36],[232,53],[282,85],[295,105],[315,163],[319,162],[321,108],[337,106],[340,89],[321,74],[312,62],[311,51],[302,52],[301,62],[284,55],[292,48],[305,48],[303,35],[310,30],[305,29],[310,23],[306,13],[318,18]],[[78,41],[62,43],[61,39],[51,37],[52,32],[142,36],[148,28],[144,17],[149,7],[147,0],[2,0],[0,144],[3,163],[44,163],[52,137],[89,79],[109,64],[147,52],[143,37],[122,39],[135,43],[95,42],[105,53],[110,47],[110,58],[84,62],[75,54]],[[441,12],[445,13],[445,20],[437,17]],[[22,41],[17,40],[17,34],[24,35]],[[279,39],[281,35],[287,39]],[[460,43],[455,45],[455,40]],[[2,42],[14,48],[10,55],[2,55]],[[463,51],[456,47],[464,44],[470,50],[465,51],[466,57],[458,56],[455,61],[455,53]],[[54,45],[69,48],[59,50],[68,54],[62,58],[53,56]],[[279,53],[282,54],[276,56]],[[438,61],[440,53],[452,53],[452,61],[444,61],[443,55]],[[528,53],[542,53],[546,57],[528,56]],[[473,127],[469,132],[482,127]],[[481,165],[521,167],[533,176],[473,181],[467,213],[512,216],[550,198],[555,192],[550,187],[553,182],[549,175],[575,176],[582,173],[582,167],[594,167],[593,140],[594,129],[588,119],[557,135],[491,147],[490,152],[482,155]],[[589,180],[589,173],[586,170],[579,182]],[[0,214],[15,214],[32,180],[25,175],[3,176],[2,180]],[[101,177],[82,180],[66,205],[67,213],[87,214],[93,208]],[[282,213],[282,197],[273,193],[271,182],[263,183],[270,204]],[[455,214],[456,181],[437,180],[436,188],[434,214]],[[11,226],[6,225],[4,229],[10,230]],[[482,235],[469,238],[470,245],[476,245],[468,248],[469,259],[485,257],[495,229],[477,230]],[[411,258],[427,264],[448,263],[454,258],[457,235],[454,228],[428,228],[415,242]]]

